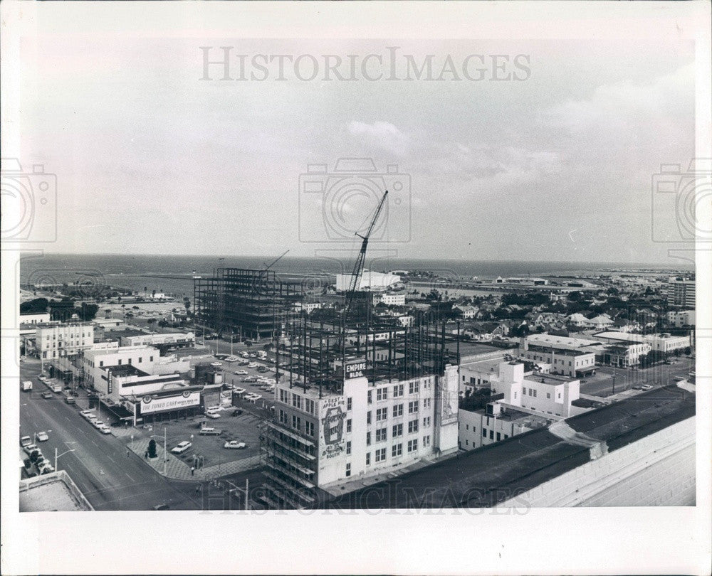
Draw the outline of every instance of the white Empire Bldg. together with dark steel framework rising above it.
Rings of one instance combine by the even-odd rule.
[[[456,452],[458,351],[444,328],[429,318],[286,324],[274,415],[261,434],[270,508],[313,506]]]

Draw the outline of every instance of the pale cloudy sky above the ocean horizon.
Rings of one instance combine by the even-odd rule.
[[[219,61],[221,46],[231,80],[221,64],[201,80],[205,53]],[[280,75],[273,58],[265,73],[259,54],[291,62]],[[676,207],[651,180],[694,155],[693,46],[670,38],[98,33],[43,36],[21,55],[21,160],[57,175],[53,252],[353,251],[352,230],[390,188],[370,250],[666,263],[654,235],[674,240]],[[341,59],[337,72],[324,55]],[[428,58],[433,71],[418,79],[413,65]],[[375,171],[363,160],[335,171],[348,158]]]

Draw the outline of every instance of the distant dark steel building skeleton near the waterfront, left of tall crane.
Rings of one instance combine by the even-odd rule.
[[[279,279],[272,270],[217,268],[194,279],[194,314],[219,334],[272,339],[295,316],[303,284]]]

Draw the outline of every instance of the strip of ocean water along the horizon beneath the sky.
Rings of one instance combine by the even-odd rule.
[[[275,257],[47,254],[23,257],[20,265],[21,284],[54,284],[82,282],[107,284],[132,290],[168,292],[178,297],[193,295],[193,271],[208,277],[218,267],[254,268],[263,270]],[[285,279],[333,276],[350,272],[353,260],[345,258],[285,256],[272,270]],[[629,270],[639,273],[663,273],[670,267],[649,264],[632,265],[615,262],[523,262],[494,260],[414,260],[391,258],[368,260],[367,268],[378,271],[423,270],[441,277],[525,277],[561,275],[576,276],[609,270]],[[686,270],[689,272],[689,270]]]

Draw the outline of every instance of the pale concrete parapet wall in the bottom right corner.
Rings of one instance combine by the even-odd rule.
[[[693,506],[695,418],[650,434],[496,506]]]

